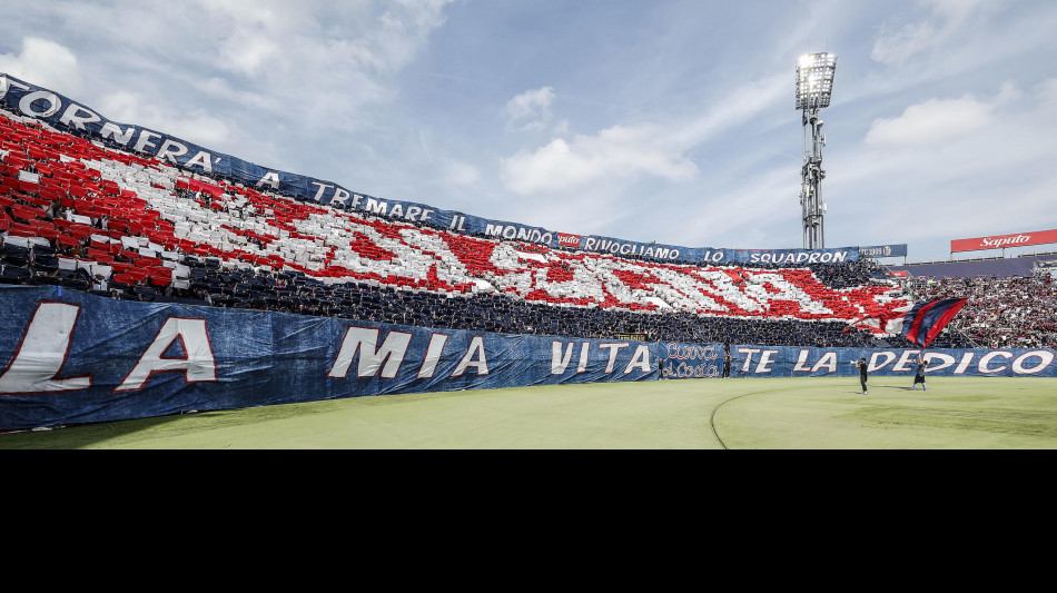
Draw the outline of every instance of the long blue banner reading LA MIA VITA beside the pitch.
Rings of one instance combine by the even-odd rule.
[[[0,431],[366,395],[653,380],[656,344],[0,286]]]

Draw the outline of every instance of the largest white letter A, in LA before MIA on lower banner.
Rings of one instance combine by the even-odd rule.
[[[184,357],[166,357],[166,352],[179,340]],[[139,357],[139,362],[113,392],[142,389],[155,373],[182,373],[187,383],[217,380],[217,363],[209,343],[205,319],[169,317],[161,325],[157,337]]]

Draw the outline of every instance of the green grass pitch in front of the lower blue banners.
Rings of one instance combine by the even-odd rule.
[[[1053,449],[1057,379],[682,379],[388,395],[0,435],[0,449]]]

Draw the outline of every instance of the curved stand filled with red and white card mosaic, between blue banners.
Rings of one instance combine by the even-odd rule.
[[[890,340],[907,303],[869,261],[660,264],[297,201],[0,117],[0,283],[500,333],[801,346]],[[957,333],[937,347],[968,347]]]

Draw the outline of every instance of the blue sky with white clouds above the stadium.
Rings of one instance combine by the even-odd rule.
[[[377,197],[787,248],[796,62],[829,51],[826,246],[922,261],[1057,228],[1054,31],[1053,0],[9,1],[0,72]]]

